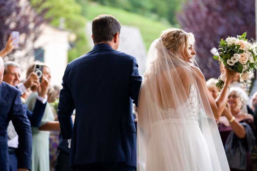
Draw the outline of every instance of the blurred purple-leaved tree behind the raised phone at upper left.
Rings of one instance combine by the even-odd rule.
[[[41,32],[39,26],[43,23],[43,16],[47,11],[48,9],[45,8],[40,13],[36,13],[26,0],[0,0],[0,49],[4,48],[11,31],[18,31],[20,32],[20,43],[19,48],[15,51],[23,50],[22,56],[14,56],[11,53],[8,55],[8,60],[26,62],[29,60],[29,56],[33,56],[32,44]]]

